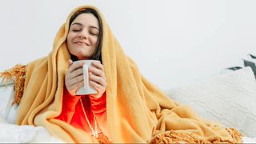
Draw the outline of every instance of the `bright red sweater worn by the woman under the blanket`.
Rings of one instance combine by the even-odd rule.
[[[92,134],[90,126],[86,122],[86,117],[82,110],[82,103],[86,111],[87,118],[90,121],[90,125],[94,129],[94,115],[98,123],[98,132],[102,132],[108,136],[107,122],[106,122],[106,94],[102,94],[101,98],[94,98],[90,95],[76,95],[72,96],[64,88],[63,103],[62,103],[62,114],[57,119],[69,123],[71,126],[77,127],[78,129],[85,130],[87,133]],[[93,115],[94,113],[94,115]]]

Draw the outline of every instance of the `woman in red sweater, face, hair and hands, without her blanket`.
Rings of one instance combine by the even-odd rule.
[[[73,64],[73,61],[101,59],[102,20],[95,10],[81,9],[72,15],[66,45],[72,59],[68,61],[70,67],[65,76],[62,114],[58,119],[86,130],[94,137],[98,137],[98,134],[108,135],[106,94],[104,94],[106,77],[100,62],[92,63],[89,77],[90,85],[98,91],[98,94],[76,96],[76,91],[83,86],[83,63]]]

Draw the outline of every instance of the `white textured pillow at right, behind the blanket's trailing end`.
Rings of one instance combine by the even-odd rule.
[[[256,82],[250,67],[222,74],[166,94],[190,105],[202,118],[256,137]]]

